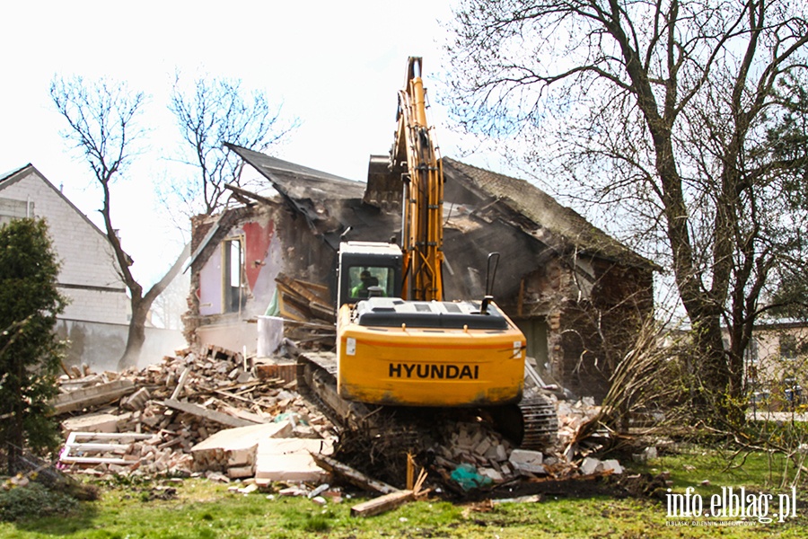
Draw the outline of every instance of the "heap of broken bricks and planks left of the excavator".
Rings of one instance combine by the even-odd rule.
[[[251,477],[258,444],[242,439],[239,429],[263,427],[260,438],[333,437],[329,421],[294,392],[294,380],[259,377],[266,369],[251,363],[239,353],[208,347],[120,374],[71,369],[82,376],[63,376],[54,402],[66,436],[61,464],[97,474]],[[223,430],[235,431],[220,439],[237,440],[236,447],[195,450]]]

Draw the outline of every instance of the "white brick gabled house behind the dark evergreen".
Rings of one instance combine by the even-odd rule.
[[[20,217],[48,222],[61,264],[58,288],[69,300],[57,322],[57,334],[70,341],[66,365],[114,370],[126,346],[129,299],[106,235],[31,164],[0,175],[0,224]],[[149,348],[158,336],[184,345],[179,331],[149,331],[146,351],[160,353]]]

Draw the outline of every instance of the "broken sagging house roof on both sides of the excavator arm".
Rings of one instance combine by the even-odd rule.
[[[306,217],[315,234],[321,235],[335,250],[340,234],[348,226],[353,228],[352,239],[364,241],[388,241],[400,233],[400,205],[364,202],[367,183],[288,163],[241,146],[226,146],[267,178],[286,202]],[[504,250],[513,254],[514,271],[528,271],[535,268],[536,260],[518,260],[531,258],[519,257],[519,253],[536,254],[549,247],[549,251],[558,255],[576,252],[655,268],[653,262],[619,243],[575,210],[558,204],[528,181],[448,157],[443,158],[443,165],[444,210],[450,216],[444,247],[449,263],[453,259],[458,267],[464,268],[475,261],[477,266],[478,259],[485,260],[487,252],[483,251]],[[400,189],[393,191],[399,193],[400,199]],[[469,207],[465,208],[469,212],[467,217],[461,216],[461,203]],[[504,242],[503,234],[508,230],[518,232],[520,237],[512,235],[514,241]],[[466,240],[454,237],[455,233]],[[452,252],[453,257],[449,256]]]

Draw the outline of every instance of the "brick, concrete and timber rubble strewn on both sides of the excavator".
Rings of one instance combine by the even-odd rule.
[[[277,495],[319,504],[342,499],[341,490],[329,487],[335,478],[389,495],[358,508],[363,515],[410,499],[329,456],[336,430],[295,392],[295,370],[288,358],[244,358],[215,346],[178,350],[162,363],[119,374],[71,369],[53,402],[66,437],[61,464],[95,475],[197,474],[238,482],[233,491],[242,493],[280,482],[288,487]],[[582,427],[591,427],[599,407],[589,399],[557,406],[558,444],[544,453],[514,447],[485,421],[465,420],[445,429],[426,470],[444,484],[457,470],[472,470],[479,484],[491,486],[622,473],[618,461],[584,449]],[[641,455],[654,454],[648,447]]]

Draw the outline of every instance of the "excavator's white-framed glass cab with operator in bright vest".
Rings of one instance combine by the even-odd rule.
[[[394,243],[340,243],[338,306],[369,297],[400,297],[402,259]]]

